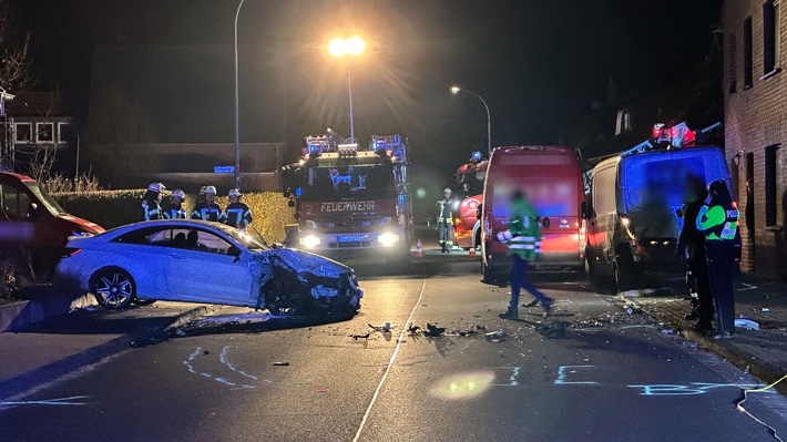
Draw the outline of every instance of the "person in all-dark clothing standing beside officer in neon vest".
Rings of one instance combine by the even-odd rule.
[[[692,312],[686,315],[685,318],[696,319],[697,322],[692,326],[692,329],[703,332],[712,328],[713,295],[711,294],[711,282],[708,281],[705,235],[697,230],[695,220],[699,208],[705,204],[707,194],[703,177],[696,175],[687,177],[686,204],[681,209],[684,222],[675,251],[676,259],[686,259],[688,267],[686,279],[689,282],[689,291],[696,292],[696,297],[692,294]]]

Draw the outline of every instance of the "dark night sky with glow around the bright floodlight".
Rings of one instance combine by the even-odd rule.
[[[94,45],[223,48],[229,63],[205,69],[216,70],[209,75],[218,102],[232,103],[236,0],[12,3],[33,31],[40,86],[57,84],[76,113],[88,110]],[[489,104],[493,145],[554,142],[555,125],[590,113],[610,78],[622,96],[653,91],[707,55],[719,11],[715,0],[245,0],[238,22],[242,142],[286,137],[296,150],[307,133],[348,127],[346,78],[324,44],[351,30],[370,45],[352,65],[357,137],[405,133],[418,147],[417,160],[450,174],[487,137],[482,104],[451,95],[452,83]],[[245,103],[266,93],[253,78],[267,66],[257,56],[276,60],[278,84],[286,84],[286,94],[264,100],[270,107],[286,97],[280,117]],[[232,142],[232,120],[219,125],[217,141]],[[162,141],[201,141],[176,137]]]

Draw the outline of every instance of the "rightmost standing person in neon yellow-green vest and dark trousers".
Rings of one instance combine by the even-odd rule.
[[[716,305],[716,335],[713,339],[730,339],[735,332],[735,239],[738,209],[729,196],[727,184],[717,179],[708,186],[708,196],[697,214],[696,226],[705,234],[711,290]]]

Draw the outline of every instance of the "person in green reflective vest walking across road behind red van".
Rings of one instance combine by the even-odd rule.
[[[511,301],[509,309],[500,313],[502,319],[519,318],[519,292],[521,289],[530,291],[544,308],[544,316],[552,309],[552,298],[539,291],[528,280],[528,263],[535,259],[541,253],[541,226],[533,206],[524,198],[522,191],[514,191],[511,195],[511,217],[509,229],[498,234],[498,240],[509,246],[511,256]],[[531,304],[532,305],[532,304]]]

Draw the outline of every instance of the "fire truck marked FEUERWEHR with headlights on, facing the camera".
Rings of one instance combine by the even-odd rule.
[[[372,135],[367,148],[336,134],[306,137],[298,163],[282,169],[282,191],[295,207],[285,245],[336,258],[369,254],[407,261],[412,202],[407,144]]]

